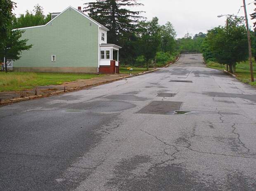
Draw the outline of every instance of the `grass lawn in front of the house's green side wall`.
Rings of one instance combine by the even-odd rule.
[[[93,74],[0,72],[0,91],[21,91],[35,86],[58,85],[77,79],[99,77]]]

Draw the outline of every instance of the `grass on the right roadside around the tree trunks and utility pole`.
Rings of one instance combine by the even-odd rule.
[[[253,63],[254,65],[254,79],[256,81],[256,63]],[[219,63],[215,62],[209,62],[207,63],[207,66],[210,68],[218,69],[218,70],[226,70],[225,65],[220,65]],[[256,82],[251,82],[251,72],[250,72],[250,66],[248,62],[241,62],[238,63],[236,66],[236,73],[237,79],[239,79],[241,82],[250,84],[252,86],[256,86]]]

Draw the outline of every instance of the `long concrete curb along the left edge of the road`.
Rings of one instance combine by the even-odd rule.
[[[97,84],[91,84],[91,85],[75,87],[75,88],[72,88],[72,89],[66,89],[65,91],[62,90],[62,91],[55,91],[55,92],[45,93],[43,95],[33,95],[33,96],[25,97],[25,98],[15,98],[15,99],[9,99],[9,100],[1,100],[0,105],[1,106],[2,105],[8,105],[8,104],[12,104],[12,103],[15,103],[15,102],[21,102],[21,101],[33,100],[33,99],[37,99],[37,98],[49,97],[51,95],[59,95],[61,93],[66,93],[66,92],[71,92],[71,91],[78,91],[78,90],[81,90],[81,89],[84,89],[84,88],[88,88],[90,86],[100,86],[100,85],[103,85],[103,84],[109,84],[111,82],[116,82],[116,81],[119,81],[121,79],[126,79],[126,78],[130,78],[130,77],[135,77],[135,76],[140,76],[140,75],[144,75],[144,74],[147,74],[147,73],[151,73],[151,72],[154,72],[156,70],[159,70],[159,69],[156,68],[156,69],[149,70],[149,71],[146,71],[146,72],[140,72],[140,73],[134,74],[134,75],[128,75],[128,76],[125,76],[125,77],[119,77],[117,79],[112,79],[112,80],[105,81],[105,82],[99,82]]]

